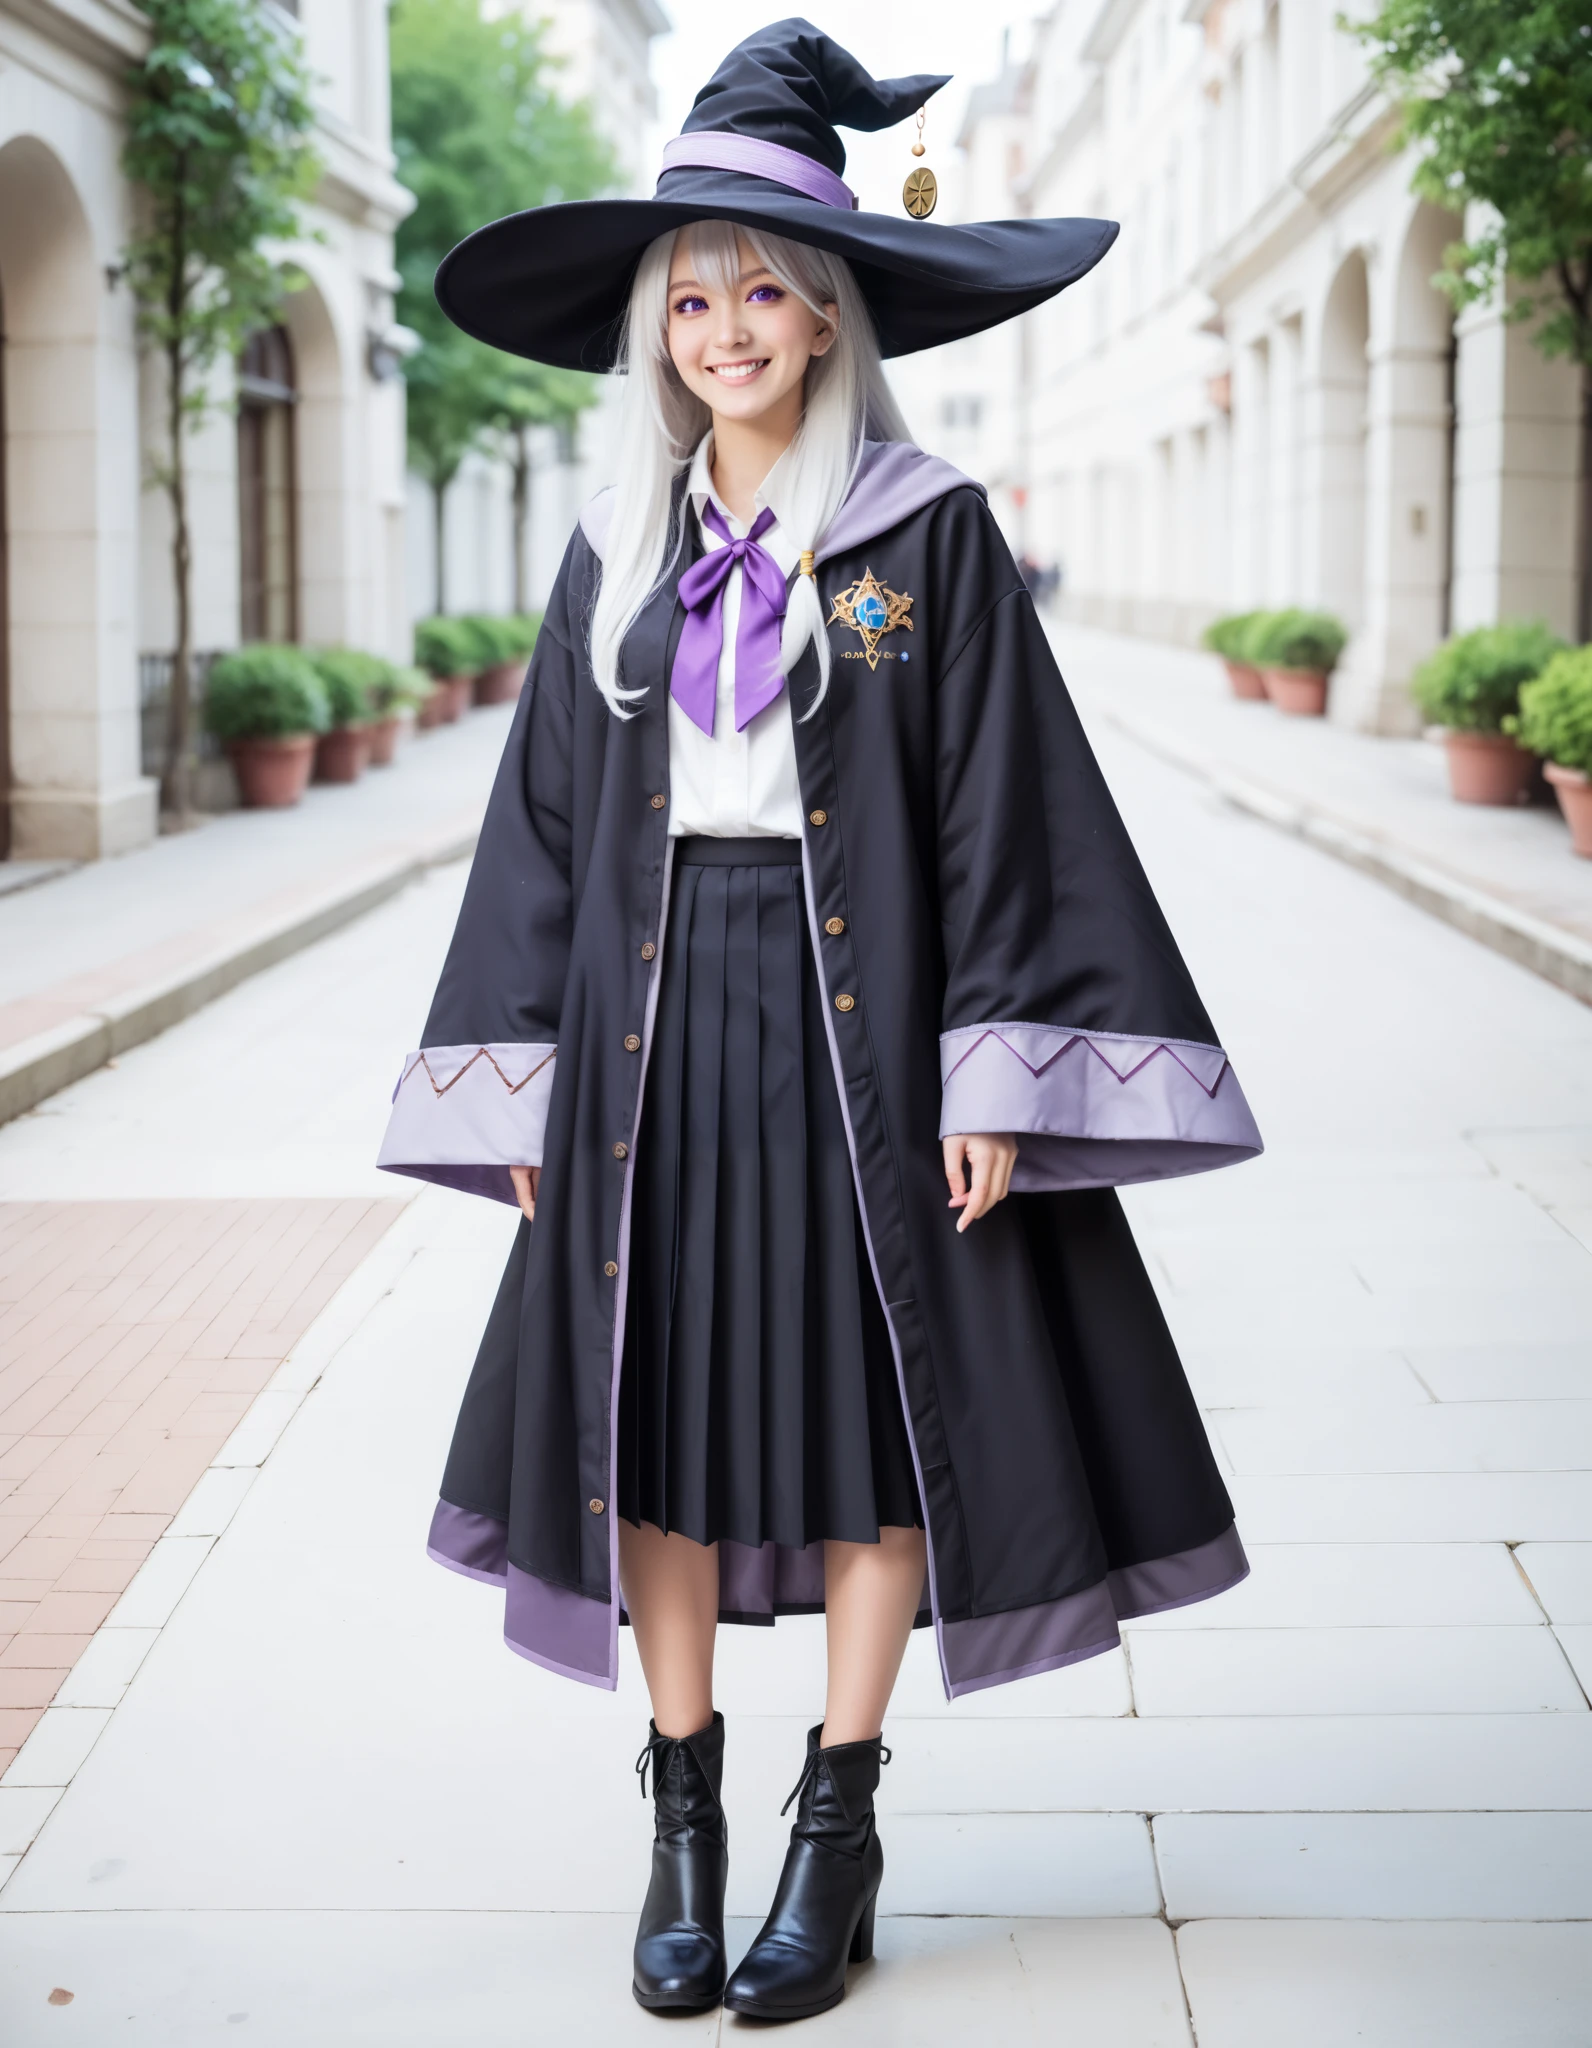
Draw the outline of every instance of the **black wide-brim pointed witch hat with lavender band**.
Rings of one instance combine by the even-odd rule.
[[[807,20],[758,29],[697,94],[652,199],[588,199],[492,221],[443,258],[436,303],[494,348],[606,371],[647,244],[693,221],[734,221],[844,256],[887,356],[1000,326],[1092,270],[1117,223],[936,225],[858,211],[840,176],[836,123],[891,127],[942,84],[869,78]]]

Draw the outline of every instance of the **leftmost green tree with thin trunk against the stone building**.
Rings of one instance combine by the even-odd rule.
[[[215,403],[215,365],[268,326],[295,276],[268,244],[301,231],[320,164],[297,41],[252,0],[143,0],[152,39],[127,78],[123,168],[141,190],[127,281],[166,371],[152,481],[172,508],[176,651],[162,809],[193,803],[193,537],[184,434]]]

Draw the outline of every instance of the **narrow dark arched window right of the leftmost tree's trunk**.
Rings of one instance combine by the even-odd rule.
[[[299,549],[293,475],[293,344],[260,328],[238,358],[240,637],[299,637]]]

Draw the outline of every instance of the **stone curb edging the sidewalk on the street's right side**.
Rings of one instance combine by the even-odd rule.
[[[1592,1004],[1592,942],[1580,938],[1576,932],[1549,924],[1545,918],[1533,918],[1531,911],[1514,909],[1510,903],[1473,889],[1455,874],[1401,852],[1389,840],[1379,840],[1356,825],[1346,825],[1332,811],[1317,811],[1295,797],[1283,797],[1262,782],[1233,774],[1154,721],[1125,715],[1100,698],[1088,698],[1086,702],[1090,715],[1115,725],[1117,731],[1125,733],[1147,754],[1156,754],[1168,762],[1168,766],[1197,776],[1235,811],[1246,811],[1250,817],[1258,817],[1262,823],[1274,825],[1279,831],[1289,831],[1324,854],[1332,854],[1334,860],[1358,868],[1360,874],[1383,883],[1383,887],[1393,889],[1408,903],[1465,932],[1467,938],[1475,938],[1494,952],[1502,952],[1516,967],[1526,967],[1533,975],[1541,975],[1543,981],[1551,981],[1567,995]]]

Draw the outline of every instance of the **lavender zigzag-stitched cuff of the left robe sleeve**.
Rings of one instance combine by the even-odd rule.
[[[377,1165],[514,1200],[510,1165],[541,1165],[555,1044],[428,1044],[410,1053]]]

